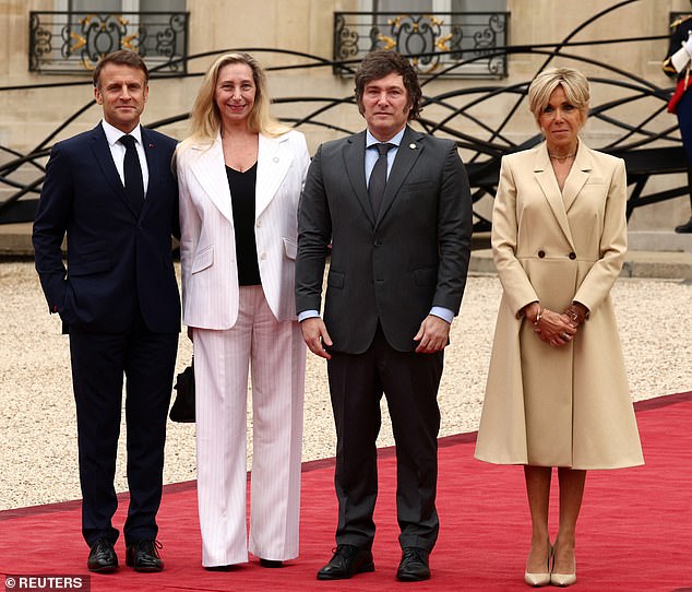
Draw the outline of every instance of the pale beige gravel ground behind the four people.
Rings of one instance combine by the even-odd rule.
[[[477,428],[494,318],[494,275],[470,275],[440,388],[441,436]],[[692,283],[620,280],[613,288],[633,400],[692,389]],[[77,499],[76,427],[68,338],[49,316],[33,262],[0,262],[0,510]],[[181,334],[178,371],[191,345]],[[303,460],[334,454],[325,366],[308,356]],[[251,426],[251,417],[248,417]],[[124,426],[122,429],[124,435]],[[121,442],[124,438],[121,438]],[[393,442],[386,410],[379,446]],[[249,459],[251,455],[249,446]],[[116,487],[127,489],[123,447]],[[194,425],[169,422],[165,482],[193,479]]]

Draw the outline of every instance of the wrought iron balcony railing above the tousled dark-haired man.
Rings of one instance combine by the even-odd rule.
[[[444,69],[443,76],[500,79],[508,75],[506,54],[496,48],[508,45],[509,22],[509,12],[335,12],[334,61],[359,61],[375,49],[396,49],[423,55],[413,59],[419,74]],[[334,67],[335,74],[353,71]]]

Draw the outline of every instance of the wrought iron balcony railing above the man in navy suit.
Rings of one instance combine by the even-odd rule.
[[[28,69],[40,73],[91,72],[98,59],[132,49],[158,75],[187,72],[188,12],[29,13]]]

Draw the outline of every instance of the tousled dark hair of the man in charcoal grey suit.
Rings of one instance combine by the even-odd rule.
[[[368,54],[356,72],[356,103],[358,109],[363,113],[362,109],[362,93],[366,90],[366,85],[373,80],[380,80],[392,72],[401,74],[404,79],[404,86],[408,92],[408,100],[410,104],[410,111],[408,111],[408,119],[417,119],[420,115],[420,99],[422,97],[422,91],[420,90],[420,83],[418,82],[418,74],[407,58],[402,56],[397,51],[389,49],[381,49],[379,51],[372,51]]]

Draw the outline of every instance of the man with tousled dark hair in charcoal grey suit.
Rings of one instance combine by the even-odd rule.
[[[296,307],[308,347],[329,360],[337,436],[337,547],[318,579],[374,570],[384,393],[397,457],[396,576],[418,581],[430,577],[439,530],[437,393],[466,283],[470,191],[455,143],[407,126],[421,100],[407,59],[394,51],[366,56],[356,100],[368,129],[320,146],[298,213]]]

